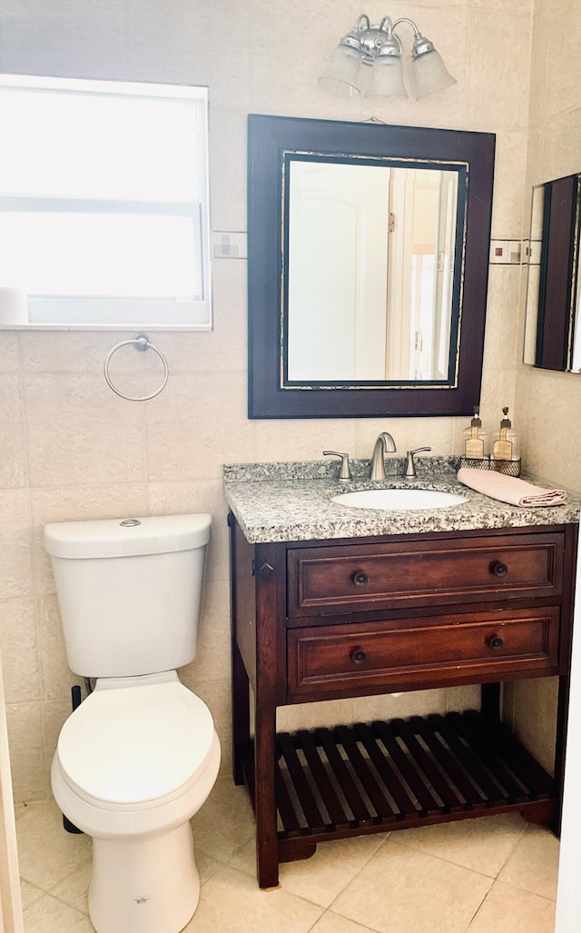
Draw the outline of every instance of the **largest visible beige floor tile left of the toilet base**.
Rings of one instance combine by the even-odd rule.
[[[52,891],[90,860],[90,838],[62,829],[62,816],[50,799],[19,808],[16,815],[21,877]]]

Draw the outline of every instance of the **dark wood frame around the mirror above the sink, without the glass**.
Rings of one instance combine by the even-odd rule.
[[[491,237],[495,136],[250,115],[248,118],[248,341],[250,418],[353,418],[472,414],[480,398]],[[284,152],[446,160],[467,166],[459,363],[453,386],[281,387],[282,172]]]

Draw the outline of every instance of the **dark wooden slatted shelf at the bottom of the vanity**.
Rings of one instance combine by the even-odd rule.
[[[281,860],[285,843],[301,839],[514,809],[536,818],[540,808],[548,820],[558,800],[553,779],[510,731],[474,710],[281,732],[276,749]]]

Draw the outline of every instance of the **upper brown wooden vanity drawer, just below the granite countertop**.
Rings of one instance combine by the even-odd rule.
[[[559,596],[560,533],[288,550],[288,616]]]

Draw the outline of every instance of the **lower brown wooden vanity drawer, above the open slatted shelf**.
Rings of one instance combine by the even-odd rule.
[[[291,629],[293,700],[384,687],[424,689],[559,673],[560,610],[465,613],[425,619]],[[351,694],[353,695],[353,693]]]

